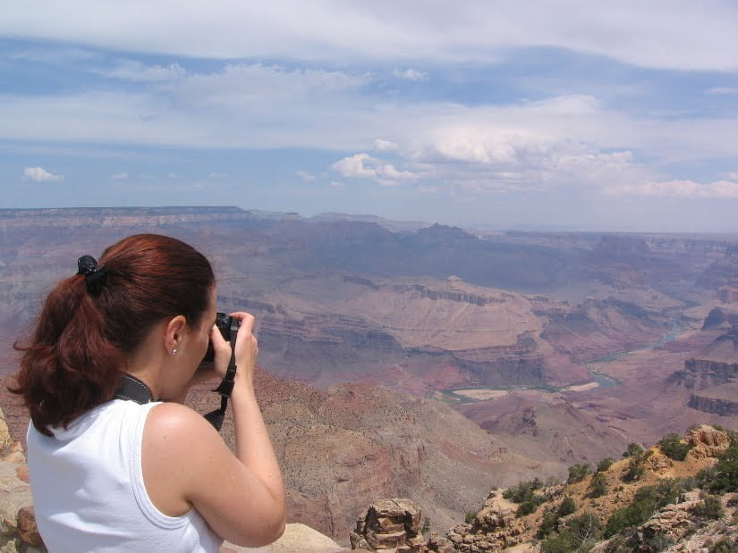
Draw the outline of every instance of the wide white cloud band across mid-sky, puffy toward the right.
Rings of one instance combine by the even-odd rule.
[[[637,186],[678,177],[659,174],[658,163],[738,157],[736,117],[638,118],[589,95],[505,105],[387,102],[365,92],[372,79],[365,72],[228,63],[136,93],[5,94],[0,138],[348,150],[361,153],[331,166],[344,177],[384,185],[422,177],[429,186],[476,192]],[[367,151],[392,153],[392,163]],[[657,160],[652,169],[640,164],[641,155]]]

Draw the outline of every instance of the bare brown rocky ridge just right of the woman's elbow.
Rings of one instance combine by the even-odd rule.
[[[377,498],[413,499],[444,529],[498,482],[562,470],[543,448],[523,457],[437,401],[368,385],[321,391],[263,372],[257,390],[288,487],[289,520],[339,542]],[[215,398],[203,389],[189,400],[206,412]],[[226,418],[226,440],[232,432]]]

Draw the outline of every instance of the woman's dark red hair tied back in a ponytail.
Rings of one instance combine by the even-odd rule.
[[[181,240],[137,234],[100,257],[106,282],[89,294],[83,275],[59,282],[48,295],[16,375],[33,424],[47,436],[109,401],[126,359],[151,327],[178,314],[194,327],[215,283],[205,256]]]

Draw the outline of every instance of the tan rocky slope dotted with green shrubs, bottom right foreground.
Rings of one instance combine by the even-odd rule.
[[[734,551],[738,545],[738,498],[730,492],[733,490],[713,496],[710,512],[706,511],[707,490],[693,490],[694,476],[714,466],[732,440],[728,432],[703,425],[684,437],[689,454],[682,461],[666,457],[660,448],[650,448],[602,464],[598,473],[584,470],[579,476],[570,476],[564,485],[536,480],[508,490],[492,490],[483,506],[466,516],[465,523],[455,525],[445,538],[431,535],[423,542],[403,541],[400,545],[394,541],[400,534],[403,539],[408,534],[405,524],[398,521],[411,518],[409,513],[420,519],[422,505],[400,509],[396,506],[405,505],[402,499],[380,501],[360,518],[352,544],[374,551],[395,550],[392,548],[399,545],[405,549],[397,551],[419,553],[613,553],[660,551],[668,546],[672,546],[668,551],[674,552]],[[639,468],[634,477],[633,466]],[[396,512],[394,517],[390,511]],[[373,521],[370,525],[369,518]],[[725,548],[708,549],[718,543]]]

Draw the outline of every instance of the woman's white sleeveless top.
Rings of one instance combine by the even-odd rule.
[[[167,516],[148,498],[141,440],[157,405],[114,399],[53,438],[29,424],[30,488],[49,551],[218,551],[223,540],[195,509]]]

